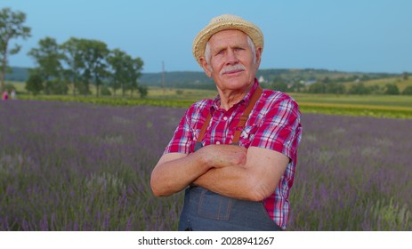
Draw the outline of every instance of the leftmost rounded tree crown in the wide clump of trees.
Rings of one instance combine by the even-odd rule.
[[[37,75],[41,76],[44,81],[61,78],[63,57],[55,39],[45,37],[38,42],[38,48],[32,48],[28,55],[36,61]]]

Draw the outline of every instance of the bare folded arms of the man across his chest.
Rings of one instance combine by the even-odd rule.
[[[223,196],[260,201],[276,189],[288,161],[271,149],[210,145],[190,155],[165,154],[150,184],[155,196],[169,196],[195,184]]]

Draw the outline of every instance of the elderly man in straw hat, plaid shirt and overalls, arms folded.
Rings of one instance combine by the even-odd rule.
[[[233,15],[215,17],[193,42],[218,95],[186,111],[150,181],[157,197],[185,189],[180,230],[286,229],[300,112],[259,86],[262,52],[260,28]]]

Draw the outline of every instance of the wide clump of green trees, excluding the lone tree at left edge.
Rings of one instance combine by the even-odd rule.
[[[119,49],[110,51],[107,44],[98,40],[76,37],[69,38],[61,45],[57,44],[55,39],[45,37],[38,44],[38,48],[28,52],[38,65],[32,69],[32,73],[41,76],[43,81],[64,79],[66,85],[73,86],[73,95],[91,94],[90,85],[94,84],[96,96],[99,96],[101,85],[108,82],[115,95],[120,88],[123,97],[126,91],[133,94],[134,90],[138,90],[137,80],[143,67],[143,61],[139,57],[133,59]],[[63,68],[61,62],[64,62],[67,68]],[[54,86],[57,87],[57,84],[46,83],[45,92],[68,92],[63,84],[59,84],[58,89],[54,89]],[[144,88],[141,88],[141,91],[141,96],[147,95]],[[103,92],[109,93],[106,89]]]

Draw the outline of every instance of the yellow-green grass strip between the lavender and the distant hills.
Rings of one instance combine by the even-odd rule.
[[[412,80],[412,79],[411,79]],[[408,82],[408,81],[404,81]],[[20,92],[25,92],[23,83],[13,83]],[[92,87],[92,92],[95,92]],[[95,95],[73,97],[72,94],[65,96],[40,95],[33,97],[23,94],[20,99],[26,100],[65,100],[93,102],[109,105],[154,105],[187,108],[196,100],[214,98],[216,91],[197,89],[170,89],[150,87],[149,95],[141,100],[137,92],[131,97],[125,98],[109,96],[96,98]],[[312,94],[312,93],[289,93],[299,104],[305,113],[326,113],[349,116],[377,116],[412,118],[412,96],[405,95],[335,95],[335,94]]]

